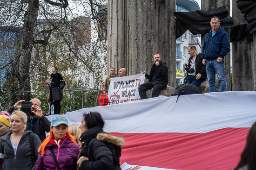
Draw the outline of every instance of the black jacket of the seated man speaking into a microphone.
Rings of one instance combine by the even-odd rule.
[[[155,69],[155,71],[154,71]],[[153,73],[155,72],[155,74]],[[150,74],[146,74],[145,77],[148,79],[148,82],[153,82],[153,85],[158,83],[163,83],[167,86],[168,84],[168,67],[166,63],[160,61],[159,65],[156,66],[155,63],[152,64]]]

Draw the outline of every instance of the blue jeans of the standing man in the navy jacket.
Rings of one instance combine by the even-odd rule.
[[[224,59],[222,59],[221,63],[217,63],[217,59],[212,61],[206,60],[205,69],[209,82],[209,92],[216,92],[216,74],[220,82],[221,92],[227,91],[227,81],[224,73]]]

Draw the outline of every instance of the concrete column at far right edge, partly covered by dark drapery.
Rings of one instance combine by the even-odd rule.
[[[241,11],[233,0],[232,17],[234,26],[246,23]],[[232,43],[232,90],[254,91],[253,43],[246,39]]]

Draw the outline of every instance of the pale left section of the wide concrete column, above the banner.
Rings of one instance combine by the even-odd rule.
[[[108,0],[108,70],[127,68],[127,0]]]

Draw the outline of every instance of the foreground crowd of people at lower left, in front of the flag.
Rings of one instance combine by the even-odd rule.
[[[64,115],[50,122],[40,101],[31,101],[31,113],[19,110],[18,101],[0,114],[0,170],[121,170],[124,139],[103,131],[100,113],[86,113],[81,126],[69,126]]]

